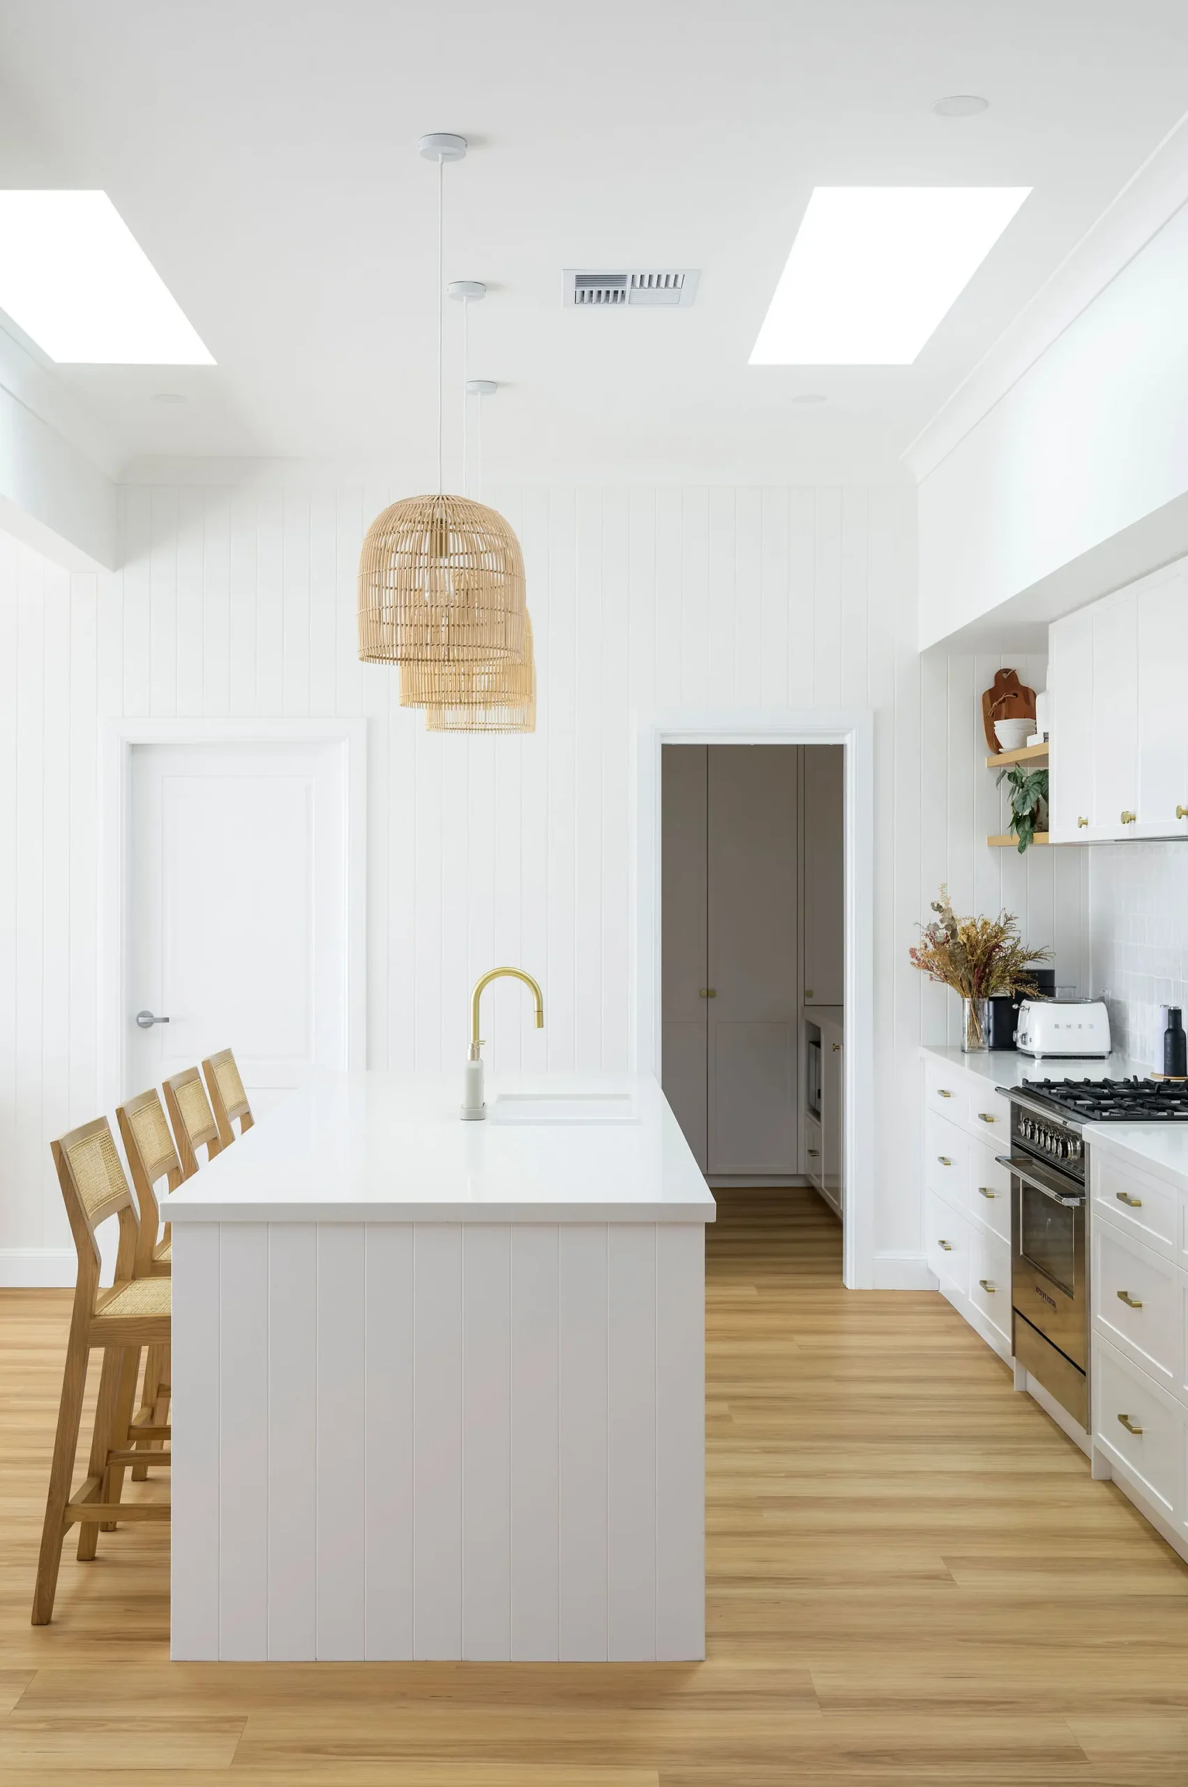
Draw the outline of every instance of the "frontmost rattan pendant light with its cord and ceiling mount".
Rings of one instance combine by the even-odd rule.
[[[434,132],[438,163],[438,493],[404,497],[372,522],[359,556],[359,658],[364,663],[523,659],[523,558],[502,515],[450,497],[441,479],[443,170],[466,139]]]

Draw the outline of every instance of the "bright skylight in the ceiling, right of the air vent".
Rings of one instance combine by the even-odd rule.
[[[752,366],[908,366],[1029,186],[818,186]]]

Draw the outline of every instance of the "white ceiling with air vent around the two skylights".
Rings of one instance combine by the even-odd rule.
[[[55,370],[121,459],[429,477],[416,139],[459,130],[445,272],[491,288],[470,361],[507,386],[489,475],[836,472],[897,459],[1172,127],[1186,75],[1183,0],[5,0],[0,184],[105,188],[218,361]],[[947,93],[990,111],[936,118]],[[915,366],[749,366],[811,188],[881,182],[1034,193]],[[700,268],[695,306],[563,309],[563,268],[623,264]]]

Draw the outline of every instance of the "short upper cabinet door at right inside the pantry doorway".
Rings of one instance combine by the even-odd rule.
[[[845,747],[802,745],[804,1003],[845,1001]]]

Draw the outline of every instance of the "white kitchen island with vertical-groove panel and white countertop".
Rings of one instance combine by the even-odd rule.
[[[168,1201],[172,1655],[704,1655],[704,1224],[650,1076],[338,1074]]]

